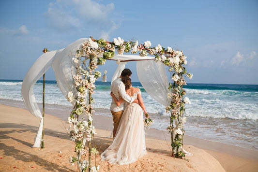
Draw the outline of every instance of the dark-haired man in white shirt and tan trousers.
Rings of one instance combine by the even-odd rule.
[[[129,96],[128,94],[126,94],[124,84],[121,81],[121,78],[123,76],[131,77],[131,74],[132,74],[132,72],[130,71],[130,69],[124,69],[122,71],[120,77],[118,77],[117,79],[115,79],[112,82],[111,91],[113,92],[113,94],[115,95],[115,97],[117,99],[119,99],[121,97],[123,100],[127,101],[128,103],[132,103],[132,102],[139,103],[139,101],[137,99],[134,99],[131,96]],[[112,99],[110,111],[111,111],[111,114],[113,116],[113,121],[114,121],[113,137],[115,137],[115,135],[116,135],[117,128],[118,128],[121,116],[123,114],[123,111],[124,111],[125,104],[126,104],[126,102],[121,103],[120,106],[117,106],[115,101]]]

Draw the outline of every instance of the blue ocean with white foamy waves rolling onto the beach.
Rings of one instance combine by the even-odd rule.
[[[42,83],[33,87],[38,103],[42,103]],[[111,117],[110,82],[95,84],[95,113]],[[166,130],[169,115],[165,106],[153,100],[140,83],[132,84],[141,89],[146,110],[154,120],[152,128]],[[0,80],[0,103],[24,105],[21,85],[22,80]],[[258,150],[258,85],[187,84],[185,88],[191,100],[185,107],[186,135]],[[46,108],[72,108],[56,81],[46,81],[45,89]]]

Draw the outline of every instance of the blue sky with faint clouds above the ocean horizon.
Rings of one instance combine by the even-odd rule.
[[[257,0],[1,0],[0,16],[0,79],[23,79],[45,47],[93,36],[182,50],[189,83],[258,84]],[[116,65],[100,71],[110,80]]]

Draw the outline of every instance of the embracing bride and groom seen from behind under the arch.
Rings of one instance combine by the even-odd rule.
[[[131,74],[124,69],[111,85],[114,140],[101,154],[102,160],[109,163],[129,164],[147,154],[142,110],[147,112],[140,89],[132,86]]]

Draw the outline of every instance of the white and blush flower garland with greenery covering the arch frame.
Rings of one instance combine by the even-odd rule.
[[[175,51],[171,47],[165,49],[160,44],[156,47],[151,47],[150,41],[139,44],[138,41],[125,42],[120,37],[114,38],[113,42],[106,42],[103,39],[94,40],[90,38],[85,41],[72,57],[72,64],[76,69],[73,73],[74,91],[67,94],[67,100],[75,103],[71,115],[68,117],[68,123],[73,126],[70,130],[70,137],[75,141],[76,157],[70,157],[69,162],[74,164],[77,162],[78,170],[83,172],[87,169],[89,172],[99,170],[99,166],[91,166],[91,153],[98,154],[95,147],[91,147],[91,141],[94,139],[96,130],[92,125],[92,114],[94,99],[95,81],[101,77],[101,72],[97,71],[98,65],[103,65],[106,59],[115,55],[115,51],[122,55],[124,52],[139,53],[141,57],[151,55],[155,56],[155,61],[161,61],[169,67],[169,72],[172,72],[171,79],[173,84],[169,83],[168,97],[171,99],[171,104],[166,107],[167,112],[170,113],[170,125],[168,130],[171,133],[171,146],[173,148],[172,154],[175,157],[182,158],[182,137],[184,134],[183,125],[186,118],[183,117],[185,103],[190,103],[188,98],[183,99],[185,90],[182,86],[186,85],[184,77],[192,78],[192,74],[186,73],[185,65],[187,63],[186,57],[181,51]],[[117,62],[119,63],[119,62]],[[88,117],[87,120],[84,118]],[[146,120],[148,125],[152,124],[150,118]],[[88,142],[88,148],[86,147]],[[88,151],[89,159],[85,159]],[[95,157],[96,159],[96,157]]]

